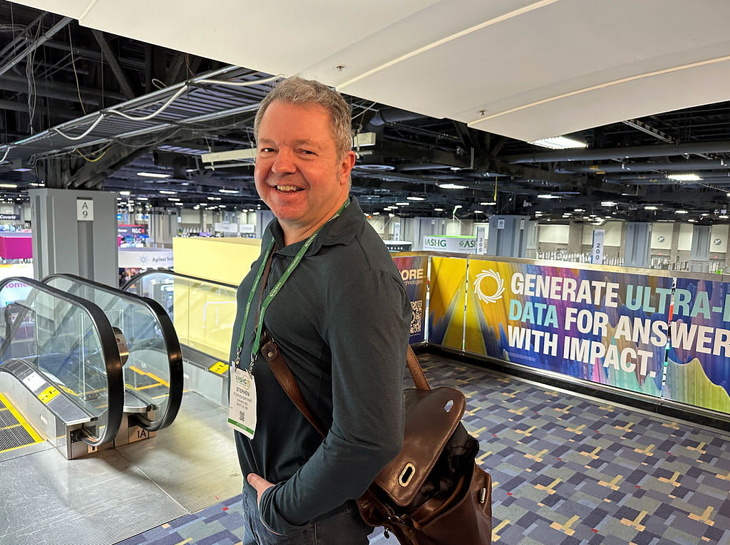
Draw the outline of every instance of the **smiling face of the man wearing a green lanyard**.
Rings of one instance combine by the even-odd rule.
[[[347,198],[355,153],[337,157],[330,116],[322,107],[272,102],[256,144],[256,190],[288,236],[308,236]]]

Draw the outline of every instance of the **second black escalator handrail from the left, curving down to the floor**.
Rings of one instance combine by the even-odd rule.
[[[183,401],[183,349],[180,346],[180,339],[177,339],[177,333],[175,332],[174,325],[172,325],[172,320],[163,306],[154,299],[118,290],[115,287],[110,287],[100,284],[99,282],[94,282],[93,280],[78,277],[75,274],[50,274],[42,279],[41,282],[47,283],[54,278],[66,279],[80,285],[88,285],[96,290],[114,295],[115,297],[134,301],[145,306],[153,314],[157,325],[160,327],[162,340],[166,347],[167,362],[170,371],[169,398],[165,412],[161,418],[158,418],[157,420],[148,420],[146,417],[142,417],[142,415],[134,414],[134,419],[137,420],[137,423],[141,428],[147,431],[161,430],[162,428],[166,428],[172,424],[175,417],[177,417],[177,411],[180,410],[180,403]]]

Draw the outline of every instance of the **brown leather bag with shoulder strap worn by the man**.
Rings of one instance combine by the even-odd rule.
[[[324,437],[268,335],[261,352],[291,401]],[[385,527],[386,537],[392,532],[403,545],[489,545],[492,480],[475,463],[479,443],[461,424],[464,394],[447,386],[431,390],[410,347],[407,363],[415,388],[404,391],[403,448],[358,498],[361,517]]]

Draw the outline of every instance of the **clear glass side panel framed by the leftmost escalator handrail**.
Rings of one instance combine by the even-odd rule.
[[[98,309],[90,312],[83,302],[53,292],[30,279],[9,279],[0,284],[0,362],[22,358],[30,363],[96,419],[85,432],[91,442],[97,441],[109,424],[107,361],[116,357],[112,368],[119,366],[118,352],[102,339],[112,331]],[[112,427],[118,429],[116,420]]]

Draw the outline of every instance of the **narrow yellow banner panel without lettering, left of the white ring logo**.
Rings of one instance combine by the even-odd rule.
[[[429,344],[464,348],[466,259],[431,258]]]

